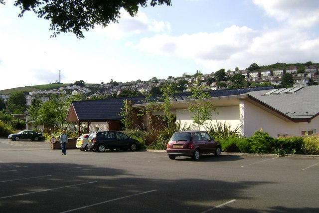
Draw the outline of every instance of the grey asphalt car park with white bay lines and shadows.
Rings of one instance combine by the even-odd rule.
[[[222,153],[171,161],[165,152],[66,154],[51,150],[49,142],[0,139],[1,212],[319,211],[319,158]]]

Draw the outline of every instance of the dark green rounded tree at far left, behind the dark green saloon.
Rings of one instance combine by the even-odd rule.
[[[8,98],[7,110],[13,114],[19,114],[23,113],[25,109],[25,94],[21,91],[12,92]]]

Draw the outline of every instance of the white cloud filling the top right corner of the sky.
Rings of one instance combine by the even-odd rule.
[[[294,27],[312,27],[319,23],[318,0],[253,0],[266,14]]]

